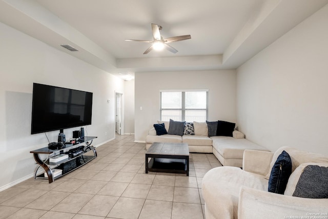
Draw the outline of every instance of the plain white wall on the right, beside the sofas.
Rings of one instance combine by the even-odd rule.
[[[250,140],[328,154],[328,5],[237,69],[237,120]]]

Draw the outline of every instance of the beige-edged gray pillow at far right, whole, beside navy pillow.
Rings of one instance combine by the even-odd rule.
[[[298,197],[328,198],[327,171],[328,163],[299,165],[291,174],[284,194]]]

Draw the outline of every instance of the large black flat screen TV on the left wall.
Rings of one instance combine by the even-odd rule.
[[[92,93],[33,83],[31,134],[91,125]]]

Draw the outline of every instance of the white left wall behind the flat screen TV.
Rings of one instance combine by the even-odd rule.
[[[115,137],[114,90],[124,93],[124,81],[0,23],[0,191],[30,177],[31,150],[48,145],[45,134],[31,135],[33,82],[93,92],[93,145]],[[65,129],[66,138],[72,131]],[[105,135],[107,132],[107,135]],[[58,131],[48,132],[56,142]]]

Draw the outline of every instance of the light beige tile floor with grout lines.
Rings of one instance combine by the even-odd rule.
[[[98,157],[54,183],[33,178],[0,192],[1,218],[204,218],[201,180],[222,166],[190,154],[186,174],[145,174],[145,144],[134,135],[97,147]]]

